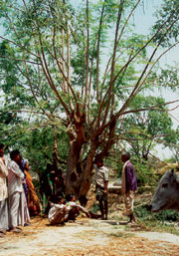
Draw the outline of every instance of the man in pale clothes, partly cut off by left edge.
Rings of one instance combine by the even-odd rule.
[[[0,143],[0,237],[4,237],[8,226],[8,189],[7,189],[7,179],[8,169],[5,165],[4,158],[4,144]]]

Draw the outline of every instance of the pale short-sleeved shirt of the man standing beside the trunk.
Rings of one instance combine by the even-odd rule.
[[[108,169],[104,166],[97,168],[94,165],[95,169],[95,184],[104,188],[105,181],[108,181]]]

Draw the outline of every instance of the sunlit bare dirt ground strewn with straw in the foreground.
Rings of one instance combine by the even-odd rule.
[[[127,228],[126,228],[127,227]],[[0,255],[179,255],[179,236],[148,232],[139,224],[78,218],[76,223],[50,226],[35,217],[20,234],[0,238]]]

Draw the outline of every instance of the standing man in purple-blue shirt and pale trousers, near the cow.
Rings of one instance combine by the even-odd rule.
[[[121,161],[123,164],[122,169],[122,194],[124,195],[124,202],[126,208],[126,214],[129,216],[129,222],[134,223],[135,217],[133,215],[133,201],[134,201],[134,191],[137,189],[137,181],[135,168],[130,162],[130,154],[128,152],[123,152],[121,154]]]

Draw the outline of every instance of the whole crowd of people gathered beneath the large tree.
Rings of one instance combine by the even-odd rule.
[[[5,236],[5,231],[19,233],[21,228],[30,224],[30,215],[40,213],[40,200],[36,194],[32,177],[29,173],[29,163],[25,161],[19,150],[10,152],[10,162],[6,165],[4,158],[4,144],[0,143],[0,237]],[[123,162],[122,187],[126,215],[130,222],[135,222],[133,214],[134,191],[137,189],[136,173],[130,161],[128,152],[121,154]],[[108,169],[103,166],[103,160],[97,158],[94,162],[95,169],[95,197],[99,203],[100,217],[107,219],[108,215]],[[46,214],[52,225],[74,221],[80,211],[88,217],[98,217],[76,202],[73,194],[65,198],[65,184],[62,172],[56,173],[52,166],[47,165],[44,177],[41,178],[41,194],[45,194],[48,205]],[[42,196],[43,197],[43,196]]]

